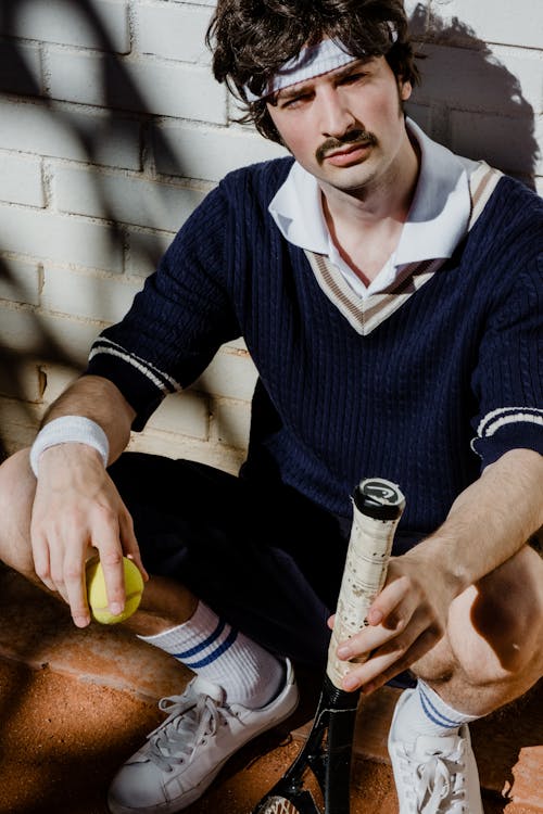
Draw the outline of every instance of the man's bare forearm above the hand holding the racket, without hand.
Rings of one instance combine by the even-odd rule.
[[[438,560],[459,594],[513,557],[542,525],[543,456],[514,449],[456,498],[442,526],[413,555]]]

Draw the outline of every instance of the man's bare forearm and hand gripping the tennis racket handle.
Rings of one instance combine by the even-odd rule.
[[[512,449],[458,495],[432,535],[390,560],[369,626],[338,648],[340,659],[367,658],[353,667],[344,689],[377,689],[434,647],[453,600],[542,527],[542,483],[543,456]]]

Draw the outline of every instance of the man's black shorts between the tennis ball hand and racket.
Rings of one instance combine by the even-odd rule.
[[[125,453],[109,471],[150,574],[182,583],[268,650],[324,670],[351,519],[188,460]]]

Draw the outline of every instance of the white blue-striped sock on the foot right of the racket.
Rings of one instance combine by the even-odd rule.
[[[469,724],[477,718],[478,715],[467,715],[450,707],[426,682],[419,679],[397,717],[396,736],[414,743],[419,735],[456,735],[462,724]]]

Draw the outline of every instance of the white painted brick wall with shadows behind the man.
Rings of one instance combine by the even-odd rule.
[[[0,440],[31,441],[206,192],[283,154],[210,71],[214,0],[25,0],[0,15]],[[543,2],[405,0],[425,81],[409,114],[543,194]],[[230,117],[230,118],[229,118]],[[539,152],[539,154],[538,154]],[[241,341],[130,448],[236,471],[256,373]]]

